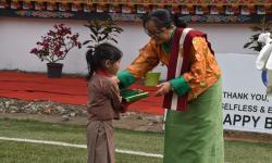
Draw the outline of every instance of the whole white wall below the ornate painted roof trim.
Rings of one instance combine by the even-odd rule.
[[[41,18],[0,17],[0,70],[22,70],[27,72],[46,72],[46,64],[29,51],[55,23],[64,23],[72,32],[79,33],[79,40],[88,39],[86,21],[62,21]],[[124,33],[120,35],[118,47],[124,52],[122,68],[129,64],[138,50],[148,41],[140,23],[120,23]],[[191,24],[190,27],[203,30],[217,53],[254,53],[243,49],[244,43],[252,35],[249,25],[242,24]],[[63,61],[64,73],[85,74],[86,48],[72,50]],[[159,67],[160,68],[160,67]],[[165,77],[163,68],[162,78]]]

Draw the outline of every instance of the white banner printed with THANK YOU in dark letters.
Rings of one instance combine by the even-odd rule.
[[[267,96],[257,54],[217,54],[223,74],[225,129],[272,134],[272,97]]]

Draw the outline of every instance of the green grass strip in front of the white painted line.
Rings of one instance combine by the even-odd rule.
[[[0,140],[1,163],[86,163],[86,149]],[[116,153],[118,163],[160,163],[162,159]]]

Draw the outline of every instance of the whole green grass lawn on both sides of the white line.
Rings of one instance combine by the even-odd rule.
[[[0,118],[0,137],[86,145],[86,129],[37,121]],[[123,150],[163,153],[163,135],[115,129],[115,147]],[[272,143],[225,141],[227,163],[271,163]],[[0,163],[84,163],[86,149],[0,140]],[[116,153],[116,163],[161,163],[161,158]]]

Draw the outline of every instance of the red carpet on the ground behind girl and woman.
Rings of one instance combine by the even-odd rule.
[[[131,88],[149,91],[150,97],[131,104],[129,111],[163,114],[163,98],[152,96],[156,87],[135,84]],[[87,83],[84,78],[76,77],[50,79],[45,74],[0,72],[0,97],[86,104]]]

